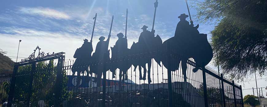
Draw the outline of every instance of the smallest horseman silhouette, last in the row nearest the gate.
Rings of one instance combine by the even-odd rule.
[[[80,73],[87,72],[87,76],[89,77],[89,71],[88,71],[88,65],[86,65],[89,61],[91,61],[91,53],[93,52],[93,46],[91,42],[88,42],[87,39],[83,40],[83,45],[76,49],[73,57],[76,58],[73,66],[72,66],[72,75],[75,75],[75,72],[77,72],[77,75],[79,76]]]

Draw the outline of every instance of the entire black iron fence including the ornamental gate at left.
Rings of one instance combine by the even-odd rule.
[[[90,69],[101,64],[151,59],[150,72],[147,72],[148,64],[142,68],[131,65],[126,74],[115,69],[112,78],[108,70],[97,81],[94,73],[73,74],[74,61],[64,61],[62,54],[16,63],[13,75],[0,77],[0,107],[243,107],[241,86],[208,66],[196,65],[192,58],[184,61],[186,70],[181,61],[175,71],[154,61],[154,55],[166,56],[162,52],[75,65],[75,68]],[[55,64],[53,59],[58,62]],[[172,61],[168,62],[170,66],[176,64]]]

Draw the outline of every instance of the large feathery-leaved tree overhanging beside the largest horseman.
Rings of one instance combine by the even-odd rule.
[[[266,0],[204,0],[194,7],[198,21],[217,23],[211,45],[224,73],[239,80],[255,71],[266,74]]]

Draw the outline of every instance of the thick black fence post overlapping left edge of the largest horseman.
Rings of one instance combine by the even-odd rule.
[[[169,96],[169,107],[172,107],[172,74],[171,74],[171,64],[170,64],[170,58],[171,56],[168,55],[167,61],[168,61],[168,96]]]

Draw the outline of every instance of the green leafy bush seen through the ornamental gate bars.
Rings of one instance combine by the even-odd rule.
[[[14,101],[16,106],[26,106],[27,96],[29,95],[29,80],[32,65],[20,66],[16,79],[15,95]],[[39,100],[44,100],[46,107],[51,107],[54,100],[54,91],[56,83],[56,66],[54,66],[53,61],[49,63],[38,62],[36,65],[36,70],[33,73],[33,87],[32,96],[30,99],[30,105],[32,107],[38,106]],[[63,83],[61,84],[62,96],[60,100],[67,100],[67,76],[64,72]]]

